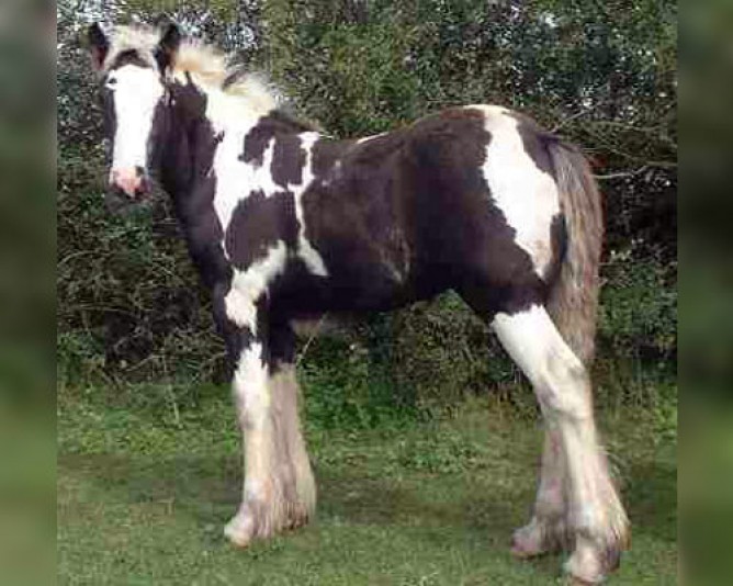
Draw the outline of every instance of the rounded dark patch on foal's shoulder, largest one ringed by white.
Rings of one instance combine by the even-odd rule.
[[[255,191],[241,200],[226,228],[225,246],[235,267],[246,269],[268,249],[284,240],[289,250],[297,244],[295,202],[290,193],[267,196]]]

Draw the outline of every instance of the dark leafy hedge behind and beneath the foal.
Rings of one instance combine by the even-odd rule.
[[[165,11],[264,71],[331,135],[496,103],[582,145],[605,195],[607,247],[596,363],[601,405],[676,405],[676,3],[322,0],[58,2],[58,375],[61,390],[165,383],[195,408],[224,382],[208,297],[163,194],[104,206],[105,160],[83,30]],[[430,416],[520,377],[487,328],[446,295],[304,340],[316,424]],[[72,392],[72,391],[69,391]],[[521,394],[519,394],[521,395]],[[155,396],[155,393],[153,393]],[[154,398],[149,398],[154,401]],[[665,415],[666,414],[666,415]]]

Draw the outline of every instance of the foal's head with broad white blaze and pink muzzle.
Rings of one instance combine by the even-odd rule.
[[[110,185],[133,200],[149,192],[170,121],[168,74],[181,43],[177,25],[153,33],[121,29],[88,32],[101,81],[105,133],[112,144]]]

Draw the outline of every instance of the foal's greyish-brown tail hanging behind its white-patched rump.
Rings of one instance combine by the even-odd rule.
[[[600,191],[587,159],[576,147],[555,139],[548,143],[548,150],[565,216],[567,246],[546,307],[567,345],[585,364],[590,364],[604,239]]]

